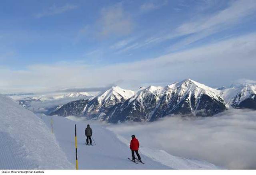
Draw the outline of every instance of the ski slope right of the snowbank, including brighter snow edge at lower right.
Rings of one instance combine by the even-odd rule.
[[[40,117],[40,116],[39,116]],[[131,157],[129,140],[117,136],[106,125],[82,118],[53,116],[54,135],[70,162],[75,167],[74,125],[77,127],[78,168],[79,169],[217,169],[215,165],[200,161],[175,157],[163,150],[140,148],[140,155],[145,164],[135,164]],[[51,128],[51,117],[43,116]],[[85,145],[84,130],[90,124],[93,130],[93,146]],[[128,138],[130,139],[130,138]]]

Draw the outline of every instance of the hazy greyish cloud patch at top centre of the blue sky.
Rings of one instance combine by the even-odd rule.
[[[126,35],[132,32],[134,24],[128,12],[122,8],[122,4],[106,7],[101,10],[100,34]]]

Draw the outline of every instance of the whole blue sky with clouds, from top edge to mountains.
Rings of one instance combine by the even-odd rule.
[[[108,85],[134,89],[185,78],[220,86],[256,79],[249,68],[255,67],[254,0],[2,0],[0,24],[3,92]],[[214,58],[196,59],[209,58],[210,50],[193,52],[210,45],[222,49],[236,39],[244,49],[237,59],[230,55],[238,51],[235,46],[222,52],[219,59],[226,64],[212,67]],[[182,54],[186,58],[174,59]],[[149,64],[162,57],[172,64]],[[189,57],[195,66],[182,61]],[[242,59],[251,62],[243,65]],[[217,81],[221,71],[225,76]]]

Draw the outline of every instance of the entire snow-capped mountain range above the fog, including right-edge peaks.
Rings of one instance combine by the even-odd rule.
[[[51,114],[85,116],[111,123],[151,122],[170,114],[213,116],[228,108],[256,110],[256,85],[219,90],[186,79],[166,87],[140,88],[136,93],[116,86],[90,99],[64,104]]]

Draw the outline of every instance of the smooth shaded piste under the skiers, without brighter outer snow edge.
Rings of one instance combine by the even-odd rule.
[[[39,117],[39,116],[38,116]],[[43,116],[44,122],[51,129],[51,117]],[[74,130],[77,129],[78,142],[78,169],[172,169],[162,163],[152,160],[142,155],[145,164],[135,164],[128,160],[131,151],[126,144],[120,142],[116,134],[107,130],[101,124],[90,124],[92,128],[93,146],[86,146],[84,130],[87,126],[85,122],[75,122],[64,117],[53,116],[54,135],[66,157],[75,167],[75,143]]]

